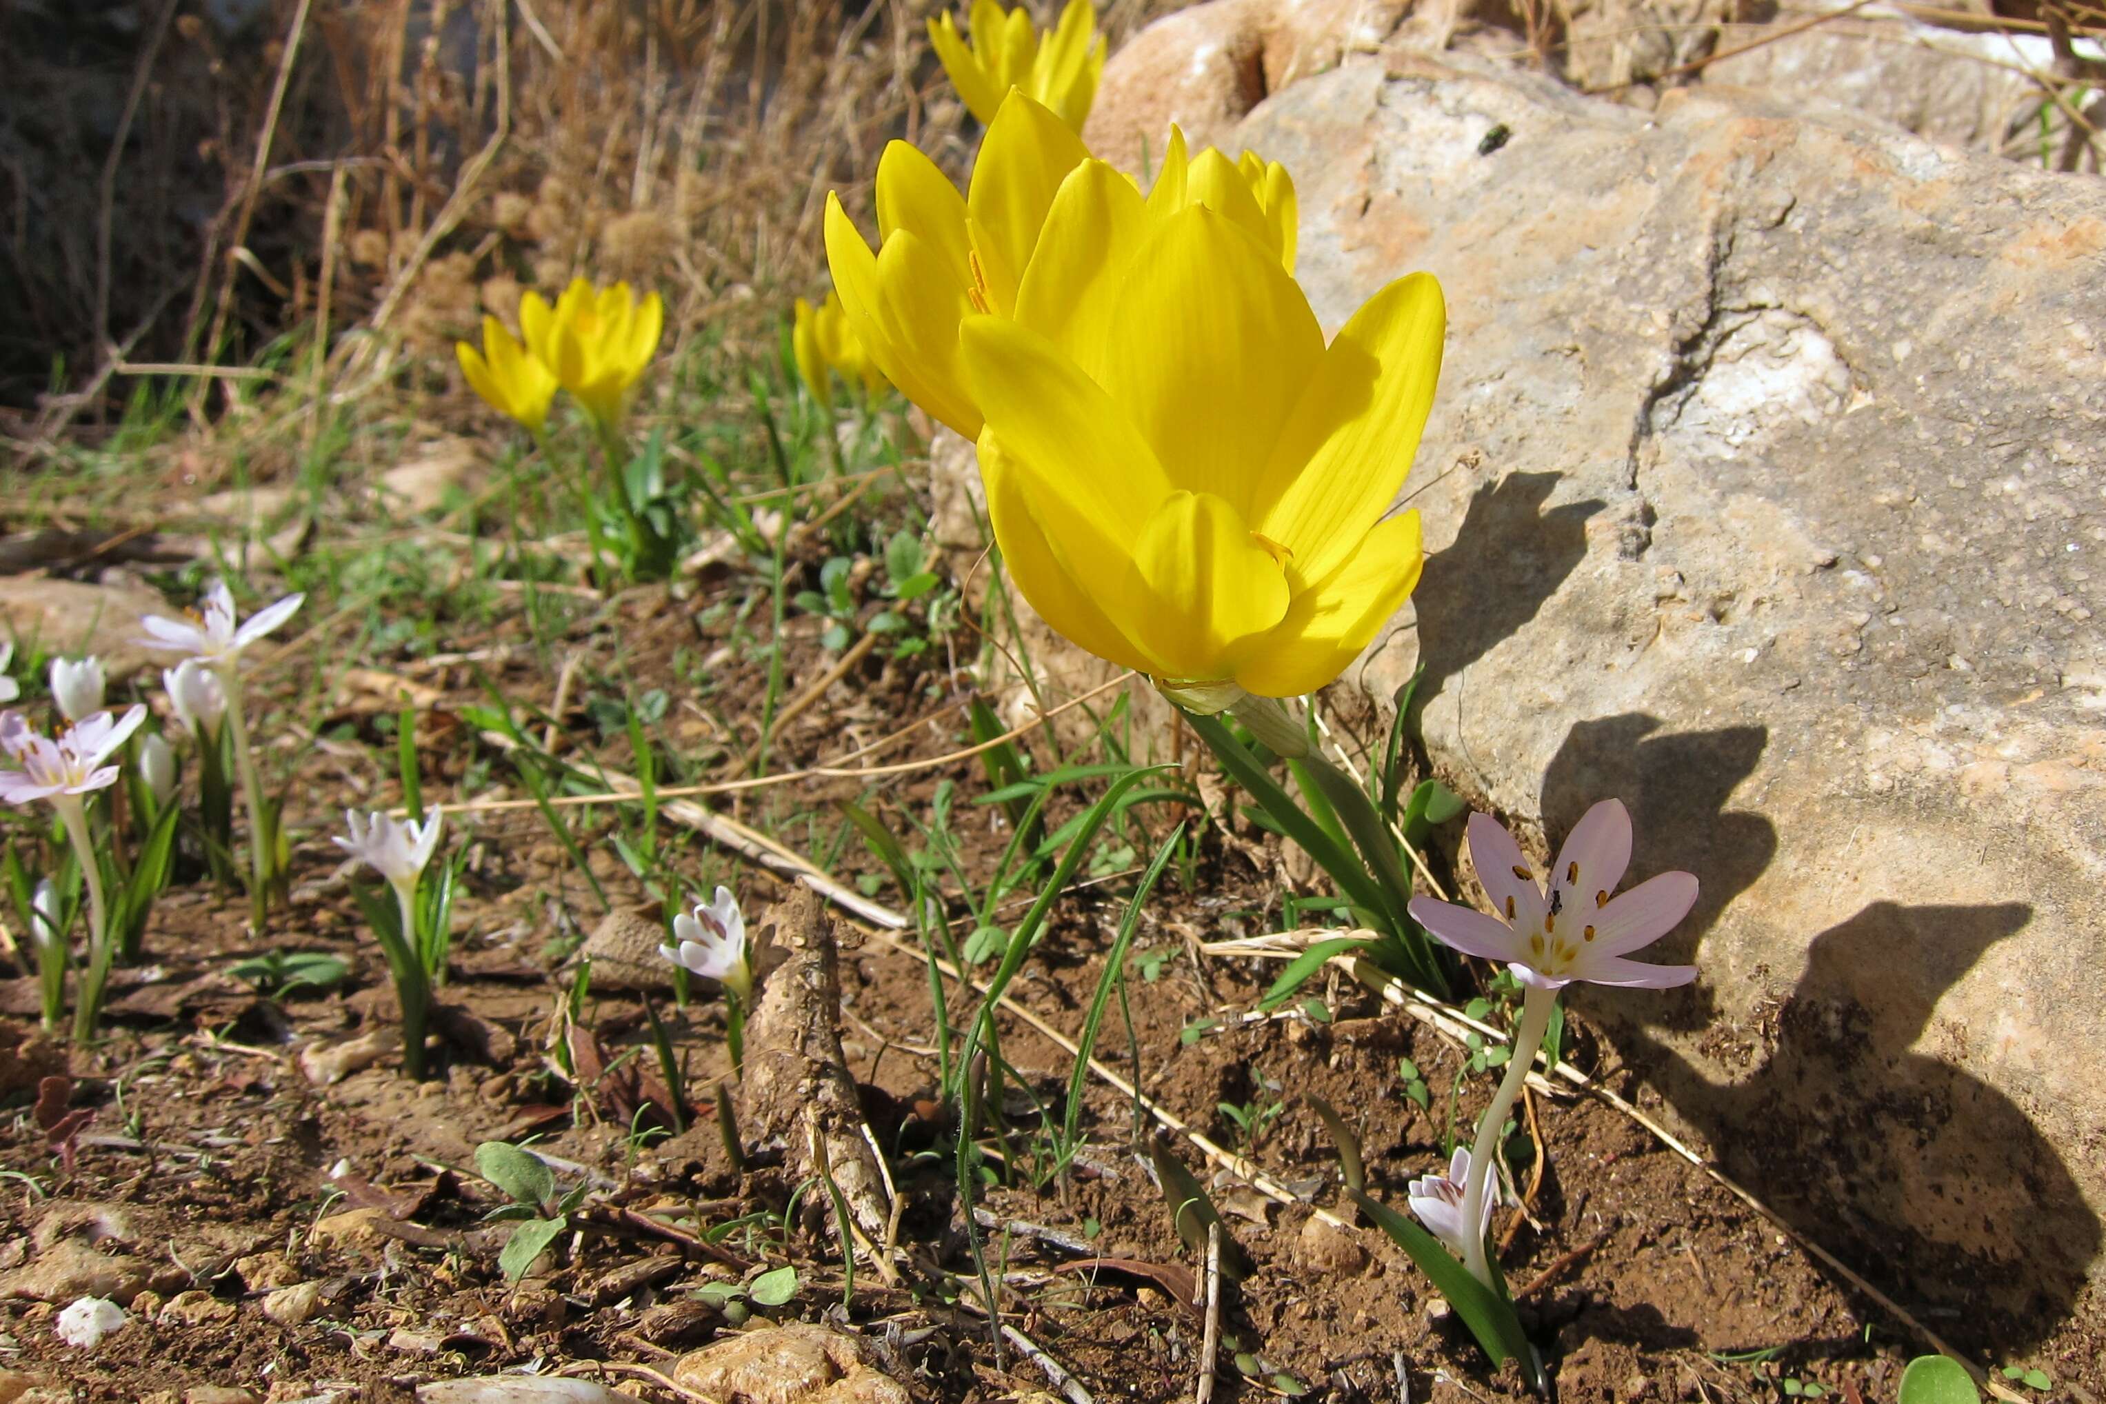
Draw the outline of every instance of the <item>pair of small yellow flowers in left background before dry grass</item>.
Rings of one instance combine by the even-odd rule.
[[[600,434],[621,425],[630,392],[657,354],[665,333],[665,303],[657,293],[642,301],[617,282],[594,288],[573,278],[556,305],[539,293],[520,299],[524,343],[493,316],[482,318],[482,349],[457,343],[461,373],[491,408],[541,434],[548,406],[569,389]]]

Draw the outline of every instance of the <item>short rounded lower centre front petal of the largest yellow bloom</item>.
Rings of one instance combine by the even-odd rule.
[[[1133,629],[1163,676],[1230,678],[1238,655],[1287,615],[1287,575],[1213,493],[1173,493],[1133,551]]]

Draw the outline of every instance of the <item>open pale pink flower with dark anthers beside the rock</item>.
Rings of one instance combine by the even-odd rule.
[[[1550,874],[1537,874],[1489,815],[1470,815],[1468,840],[1470,863],[1497,911],[1413,897],[1411,918],[1443,945],[1508,964],[1537,989],[1573,981],[1666,989],[1695,979],[1695,966],[1624,960],[1689,916],[1697,880],[1668,871],[1615,897],[1630,867],[1630,813],[1622,800],[1603,800],[1573,825]]]

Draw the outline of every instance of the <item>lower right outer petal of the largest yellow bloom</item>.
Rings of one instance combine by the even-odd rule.
[[[1419,514],[1379,522],[1329,579],[1295,596],[1280,627],[1236,667],[1259,697],[1302,697],[1352,665],[1419,583]]]

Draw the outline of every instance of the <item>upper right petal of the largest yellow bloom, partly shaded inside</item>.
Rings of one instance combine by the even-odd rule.
[[[1375,293],[1323,354],[1272,446],[1251,518],[1323,579],[1388,512],[1441,377],[1447,309],[1430,274]]]

